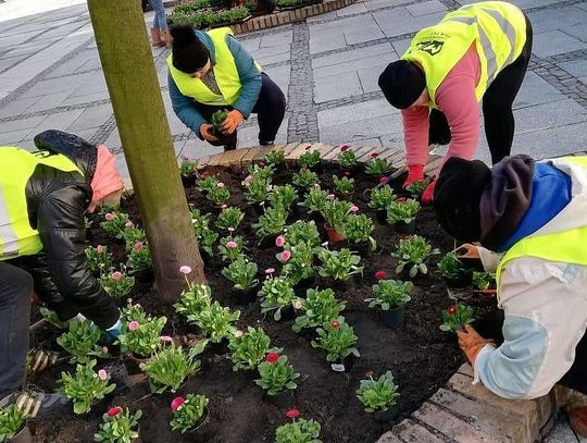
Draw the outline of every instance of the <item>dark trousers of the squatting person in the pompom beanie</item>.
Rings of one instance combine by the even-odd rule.
[[[233,110],[229,106],[212,106],[195,102],[196,108],[202,116],[210,122],[212,114],[216,111],[227,109]],[[265,73],[261,73],[261,91],[252,112],[258,115],[259,120],[259,144],[267,145],[275,140],[277,131],[284,121],[286,99],[279,86],[273,82]],[[201,135],[198,134],[200,138]],[[236,148],[237,131],[228,135],[218,135],[217,141],[208,141],[213,146],[224,146],[224,150]]]

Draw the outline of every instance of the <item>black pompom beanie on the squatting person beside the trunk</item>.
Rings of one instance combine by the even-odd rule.
[[[210,58],[208,48],[202,44],[190,25],[170,27],[173,37],[173,66],[186,74],[201,70]]]

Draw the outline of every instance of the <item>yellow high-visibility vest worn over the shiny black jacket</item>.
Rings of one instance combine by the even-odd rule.
[[[34,255],[42,249],[38,231],[30,226],[26,201],[26,184],[38,164],[82,174],[63,155],[0,147],[0,260]]]

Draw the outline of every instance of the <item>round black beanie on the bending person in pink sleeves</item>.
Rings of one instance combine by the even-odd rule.
[[[397,60],[379,75],[379,88],[389,103],[399,109],[411,107],[426,88],[426,76],[414,63]]]

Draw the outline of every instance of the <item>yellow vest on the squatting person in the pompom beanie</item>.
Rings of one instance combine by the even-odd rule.
[[[215,64],[211,66],[214,77],[222,95],[214,94],[200,78],[192,78],[189,74],[174,67],[173,56],[167,57],[170,73],[177,86],[177,89],[186,96],[191,97],[202,104],[234,104],[240,96],[242,83],[238,75],[235,58],[228,48],[226,38],[234,35],[229,27],[221,27],[208,30],[207,34],[214,44]],[[255,62],[257,69],[261,72],[261,65]]]

